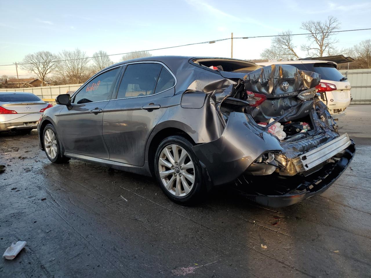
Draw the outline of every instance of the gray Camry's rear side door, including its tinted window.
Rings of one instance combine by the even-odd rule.
[[[127,64],[116,97],[103,115],[103,137],[109,159],[144,165],[148,136],[174,96],[176,79],[160,62]]]

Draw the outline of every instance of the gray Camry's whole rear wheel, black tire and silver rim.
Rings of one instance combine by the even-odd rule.
[[[155,175],[162,191],[176,203],[195,203],[204,194],[200,164],[191,142],[182,136],[162,140],[155,155]]]

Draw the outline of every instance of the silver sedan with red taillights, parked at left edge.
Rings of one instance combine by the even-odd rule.
[[[41,114],[52,105],[26,92],[0,92],[0,131],[30,133]]]

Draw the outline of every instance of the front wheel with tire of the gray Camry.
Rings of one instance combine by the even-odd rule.
[[[44,128],[43,143],[47,158],[54,163],[66,163],[69,158],[62,157],[57,132],[53,125],[48,124]]]

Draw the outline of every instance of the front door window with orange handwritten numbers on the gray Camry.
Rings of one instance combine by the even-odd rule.
[[[114,81],[119,70],[119,68],[109,70],[90,80],[73,97],[72,103],[82,104],[109,100],[111,98],[111,89],[114,86]]]

